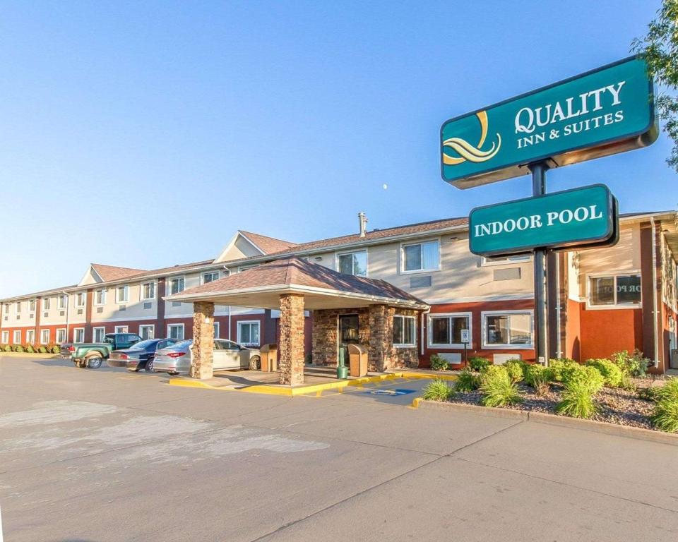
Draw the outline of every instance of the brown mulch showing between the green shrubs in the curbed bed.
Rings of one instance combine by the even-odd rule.
[[[633,382],[638,388],[660,385],[660,380],[653,381],[649,378],[634,378]],[[523,383],[518,384],[518,390],[523,396],[523,402],[506,408],[558,414],[556,405],[561,400],[561,385],[550,385],[549,390],[542,395],[537,395],[533,388]],[[477,390],[458,392],[452,402],[480,404],[480,397],[481,394]],[[598,406],[598,411],[590,418],[592,420],[617,423],[620,426],[653,429],[649,416],[652,414],[655,403],[646,399],[639,399],[635,391],[604,387],[595,395],[594,400]]]

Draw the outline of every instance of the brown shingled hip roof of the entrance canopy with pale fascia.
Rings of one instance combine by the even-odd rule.
[[[310,310],[357,308],[376,303],[419,310],[429,308],[421,299],[389,282],[345,275],[297,257],[259,265],[165,299],[277,309],[281,294],[295,293],[304,295],[304,308]]]

